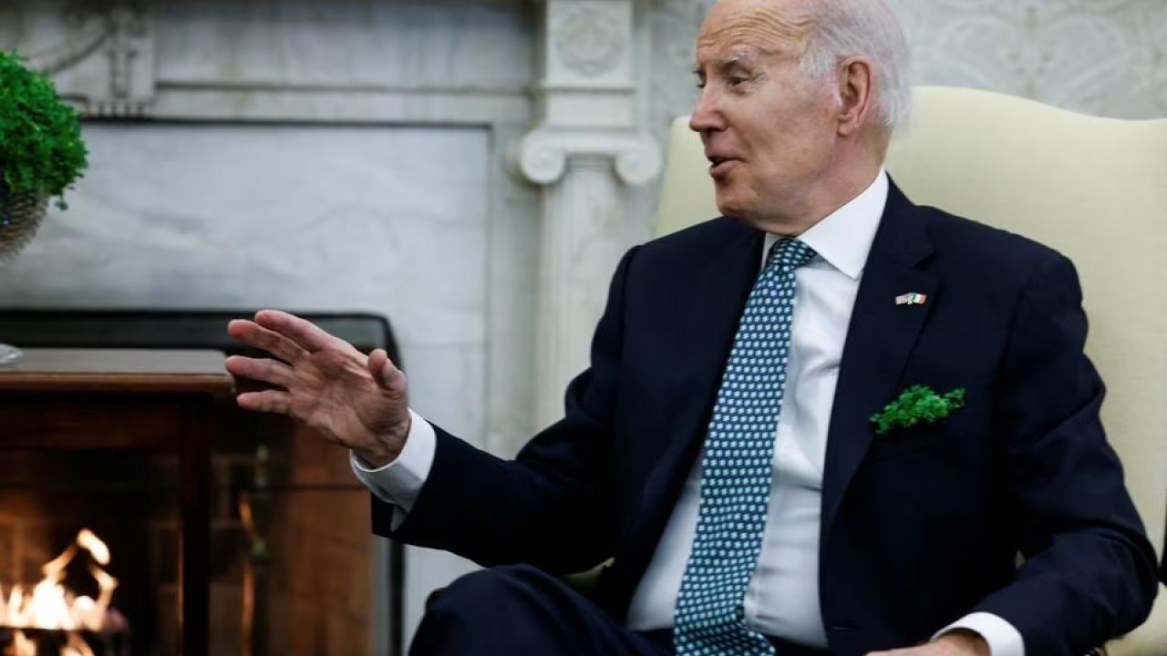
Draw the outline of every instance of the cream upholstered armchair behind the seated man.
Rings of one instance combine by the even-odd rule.
[[[887,168],[909,198],[1032,237],[1077,265],[1103,423],[1159,554],[1167,521],[1167,120],[1076,114],[1032,100],[918,88]],[[673,123],[658,233],[717,216],[700,139]],[[1167,656],[1167,594],[1110,642]]]

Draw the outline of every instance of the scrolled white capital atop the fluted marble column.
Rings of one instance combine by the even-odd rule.
[[[525,180],[551,184],[562,177],[572,156],[610,158],[626,184],[644,184],[661,173],[656,139],[636,130],[540,127],[524,135],[511,151],[511,166]]]

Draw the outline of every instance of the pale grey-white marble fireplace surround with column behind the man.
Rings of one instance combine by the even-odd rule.
[[[628,218],[659,168],[636,127],[644,11],[0,1],[0,47],[53,76],[90,148],[70,209],[0,266],[0,308],[387,316],[414,409],[513,454],[558,414],[596,281],[644,232]],[[473,567],[408,550],[406,636]],[[379,616],[389,600],[368,587],[354,603]]]

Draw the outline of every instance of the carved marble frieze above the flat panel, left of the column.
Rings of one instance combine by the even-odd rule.
[[[516,7],[501,4],[505,14],[518,16],[530,11],[513,1]],[[302,0],[300,4],[312,6]],[[357,43],[326,48],[321,44],[323,37],[305,36],[310,29],[295,33],[294,21],[291,26],[265,21],[264,16],[272,13],[296,15],[293,5],[287,0],[256,9],[228,0],[181,0],[169,6],[159,0],[0,0],[0,48],[25,53],[34,67],[54,77],[63,98],[91,118],[474,126],[522,125],[534,118],[529,79],[511,74],[492,74],[504,81],[502,84],[491,78],[478,85],[481,76],[462,72],[450,78],[441,65],[427,67],[419,78],[413,74],[372,74],[368,64],[352,64],[337,70],[335,76],[321,78],[313,61],[315,54],[352,50],[354,56],[368,58],[383,49],[406,53],[406,46],[389,47],[383,42],[405,41],[408,30],[385,15],[377,19],[377,27],[358,25],[352,16],[369,11],[368,2],[347,0],[330,5],[335,9],[319,12],[335,12],[341,18],[337,25],[352,29]],[[426,4],[418,0],[417,5]],[[401,11],[382,9],[390,14]],[[434,41],[441,42],[443,36],[448,40],[446,30],[476,34],[474,28],[450,21],[446,15],[450,9],[425,11],[441,16],[433,26],[440,30]],[[466,11],[470,18],[482,14],[473,4],[456,11]],[[175,23],[190,19],[203,22],[190,30]],[[508,20],[512,19],[508,16],[489,26],[487,34],[497,30],[499,39],[529,37],[519,32],[526,26],[518,19],[513,19],[512,32],[502,27]],[[236,39],[236,32],[268,47],[251,53],[251,46]],[[175,44],[175,35],[187,40]],[[156,39],[169,41],[156,43]],[[280,50],[280,44],[287,51]],[[526,50],[506,46],[499,51],[525,54]],[[425,54],[431,58],[449,56],[461,67],[460,71],[467,67],[464,56],[459,60],[436,46],[428,47]],[[240,75],[236,61],[252,67],[250,72]],[[287,68],[281,69],[285,64]],[[504,67],[515,70],[534,65],[522,62],[518,67],[482,64],[482,68],[489,72]],[[251,75],[254,71],[260,75]],[[279,77],[270,71],[287,75]]]

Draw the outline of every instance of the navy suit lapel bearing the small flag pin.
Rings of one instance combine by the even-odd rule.
[[[871,446],[868,417],[900,391],[896,384],[928,312],[936,274],[918,265],[932,252],[918,209],[893,183],[864,267],[839,363],[823,475],[822,543],[843,496]],[[896,305],[908,292],[928,294],[924,305]]]

